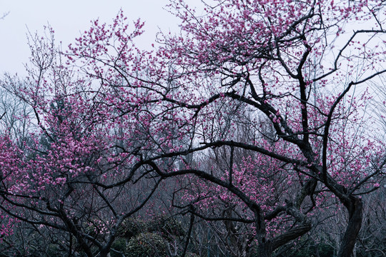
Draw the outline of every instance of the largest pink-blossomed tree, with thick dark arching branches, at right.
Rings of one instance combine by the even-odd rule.
[[[243,102],[272,122],[282,143],[272,150],[264,141],[244,144],[211,134],[202,137],[203,145],[247,148],[281,161],[285,168],[292,165],[290,170],[309,178],[303,187],[307,194],[313,195],[315,183],[322,183],[347,208],[349,221],[338,256],[350,256],[362,221],[358,194],[373,190],[365,189],[366,183],[379,186],[372,179],[385,165],[383,143],[358,133],[362,124],[357,110],[369,96],[354,95],[359,85],[385,72],[382,3],[218,1],[206,7],[204,16],[194,15],[181,1],[174,8],[186,34],[165,39],[164,53],[181,65],[180,76],[219,81],[200,111],[219,99]],[[360,21],[375,29],[345,34],[347,24]],[[376,51],[367,51],[371,44]],[[232,181],[232,167],[227,172],[225,180]],[[287,201],[285,207],[299,206],[295,203]],[[267,221],[261,204],[254,208],[254,218]],[[274,238],[266,238],[264,221],[256,229],[261,256],[277,248]]]

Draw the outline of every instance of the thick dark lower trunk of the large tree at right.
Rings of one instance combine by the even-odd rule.
[[[356,197],[351,197],[350,200],[350,203],[345,205],[349,211],[349,220],[337,257],[352,256],[352,250],[362,226],[362,200]]]

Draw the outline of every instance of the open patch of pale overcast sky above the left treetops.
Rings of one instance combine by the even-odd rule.
[[[97,19],[110,23],[119,9],[129,20],[141,18],[146,21],[146,33],[140,39],[144,48],[149,48],[155,34],[162,31],[177,31],[177,22],[163,7],[168,0],[0,0],[0,74],[9,72],[24,75],[24,63],[29,61],[26,44],[27,27],[29,31],[43,31],[50,24],[56,34],[56,42],[63,46],[74,42],[80,31],[89,28],[90,21]]]

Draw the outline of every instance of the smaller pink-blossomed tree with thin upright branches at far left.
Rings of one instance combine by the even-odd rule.
[[[138,113],[128,119],[117,106],[109,109],[100,96],[114,99],[117,92],[94,90],[89,79],[77,77],[61,63],[51,29],[47,36],[30,40],[29,77],[21,84],[2,81],[4,89],[31,107],[32,115],[18,117],[29,124],[28,141],[2,128],[0,194],[6,218],[1,233],[9,235],[16,219],[41,231],[66,232],[63,247],[70,255],[106,256],[120,223],[149,201],[160,179],[132,166],[139,159],[129,151],[138,151],[135,144],[144,140],[130,132],[143,129],[132,120]],[[124,126],[116,126],[122,120]],[[135,139],[127,141],[127,135]],[[127,168],[132,169],[129,177]]]

